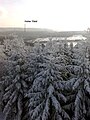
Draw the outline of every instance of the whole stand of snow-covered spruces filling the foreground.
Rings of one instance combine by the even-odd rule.
[[[90,120],[90,43],[7,40],[0,79],[6,120]]]

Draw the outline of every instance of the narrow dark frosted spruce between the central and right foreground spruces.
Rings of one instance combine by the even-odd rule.
[[[67,98],[67,102],[63,105],[63,108],[67,111],[70,118],[72,119],[74,115],[74,100],[75,100],[75,91],[73,91],[72,86],[76,81],[76,77],[80,72],[80,60],[75,57],[76,51],[73,47],[73,44],[70,44],[68,56],[70,58],[69,64],[65,65],[66,73],[69,76],[66,77],[66,83],[64,88],[64,93]]]

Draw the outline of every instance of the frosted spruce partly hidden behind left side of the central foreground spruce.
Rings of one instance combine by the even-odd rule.
[[[27,61],[28,61],[28,68],[27,68],[27,73],[29,74],[28,80],[29,80],[29,89],[31,88],[35,76],[40,73],[44,66],[42,66],[43,63],[45,63],[48,60],[48,57],[44,55],[44,51],[42,50],[40,44],[35,44],[34,48],[30,52],[30,54],[27,56]],[[28,81],[27,80],[27,81]],[[25,109],[27,108],[28,110],[28,97],[26,97],[27,101],[25,102],[24,106]],[[27,120],[29,118],[29,113],[25,113],[25,116],[23,117],[22,120]]]

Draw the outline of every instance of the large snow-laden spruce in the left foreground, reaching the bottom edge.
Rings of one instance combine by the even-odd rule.
[[[17,54],[8,59],[7,67],[8,73],[2,80],[3,113],[6,120],[22,120],[24,94],[28,88],[27,64],[24,57]]]

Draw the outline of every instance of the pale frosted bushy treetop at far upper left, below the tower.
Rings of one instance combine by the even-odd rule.
[[[21,53],[24,56],[27,54],[28,49],[25,46],[23,38],[13,35],[12,39],[4,40],[4,50],[6,56],[11,56],[12,54]]]

